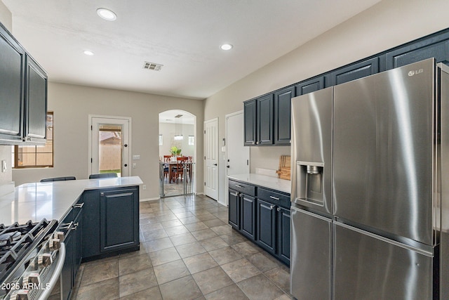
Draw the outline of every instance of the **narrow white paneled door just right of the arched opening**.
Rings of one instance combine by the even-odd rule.
[[[204,193],[218,198],[218,119],[204,122]]]

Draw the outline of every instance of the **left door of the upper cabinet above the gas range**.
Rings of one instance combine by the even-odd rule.
[[[22,141],[25,50],[0,25],[0,141]]]

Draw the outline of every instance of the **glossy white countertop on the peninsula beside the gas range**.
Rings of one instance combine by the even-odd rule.
[[[62,221],[85,190],[142,185],[139,176],[25,183],[0,197],[0,223]]]

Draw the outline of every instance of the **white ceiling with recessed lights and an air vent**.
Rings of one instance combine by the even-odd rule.
[[[203,99],[380,0],[1,1],[50,81]]]

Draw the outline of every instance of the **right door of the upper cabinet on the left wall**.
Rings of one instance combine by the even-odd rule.
[[[47,76],[27,56],[25,141],[45,143],[47,117]]]

